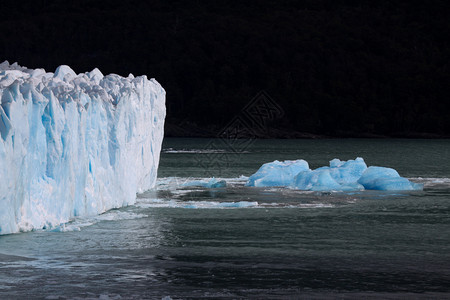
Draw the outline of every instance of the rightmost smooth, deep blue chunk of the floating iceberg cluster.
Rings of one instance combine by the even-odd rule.
[[[400,177],[398,172],[392,168],[369,167],[359,178],[358,183],[368,190],[422,190],[423,185]]]

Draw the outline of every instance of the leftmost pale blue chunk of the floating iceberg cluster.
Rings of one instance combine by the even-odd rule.
[[[309,170],[305,160],[274,161],[262,165],[259,170],[249,177],[247,186],[290,186],[295,175]]]

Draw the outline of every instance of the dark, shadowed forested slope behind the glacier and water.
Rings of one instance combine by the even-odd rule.
[[[269,136],[448,137],[448,3],[2,0],[0,61],[155,77],[167,136],[215,135],[264,90]]]

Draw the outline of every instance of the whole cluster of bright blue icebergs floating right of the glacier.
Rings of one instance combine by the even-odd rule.
[[[247,186],[285,186],[308,191],[422,190],[423,185],[400,177],[385,167],[367,167],[361,157],[341,161],[333,159],[329,167],[309,169],[304,160],[274,161],[264,164],[249,177]]]

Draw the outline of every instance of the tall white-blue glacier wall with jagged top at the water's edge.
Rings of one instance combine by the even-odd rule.
[[[135,203],[156,183],[165,90],[146,76],[0,64],[0,234]]]

